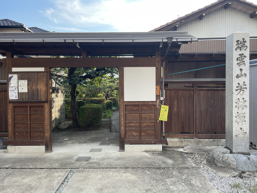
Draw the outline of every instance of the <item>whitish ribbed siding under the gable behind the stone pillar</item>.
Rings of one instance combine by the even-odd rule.
[[[178,27],[178,31],[188,31],[198,38],[227,37],[233,32],[249,32],[257,36],[257,17],[232,8],[221,8],[207,14],[202,20],[196,19]]]

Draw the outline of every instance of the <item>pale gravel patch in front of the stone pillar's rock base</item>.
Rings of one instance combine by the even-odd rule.
[[[188,153],[187,155],[218,192],[257,192],[257,171],[240,172],[217,167],[210,162],[207,153]]]

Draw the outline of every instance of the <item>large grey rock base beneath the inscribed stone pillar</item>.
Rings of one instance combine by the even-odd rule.
[[[257,156],[231,154],[227,148],[216,148],[210,153],[210,161],[219,167],[236,169],[239,171],[255,172],[257,170]]]

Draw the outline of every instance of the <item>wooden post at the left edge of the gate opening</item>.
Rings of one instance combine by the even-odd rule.
[[[48,102],[45,103],[45,152],[52,151],[52,78],[49,68],[48,72]]]

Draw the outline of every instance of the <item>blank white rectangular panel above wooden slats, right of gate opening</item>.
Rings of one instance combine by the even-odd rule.
[[[155,101],[155,67],[124,68],[124,101]]]

